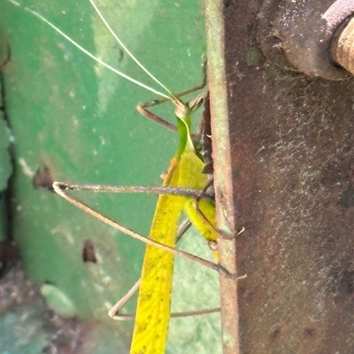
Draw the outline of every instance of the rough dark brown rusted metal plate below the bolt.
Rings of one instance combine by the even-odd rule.
[[[224,3],[226,75],[222,60],[211,68],[213,138],[223,79],[229,115],[218,128],[229,142],[213,145],[216,192],[227,212],[235,208],[225,213],[230,229],[245,227],[235,267],[248,275],[238,282],[240,352],[351,354],[354,79],[311,78],[267,61],[256,43],[261,5]]]

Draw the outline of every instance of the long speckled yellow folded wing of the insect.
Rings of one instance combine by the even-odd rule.
[[[173,158],[164,186],[177,186],[179,161]],[[159,196],[150,238],[173,247],[185,198]],[[135,328],[130,354],[165,352],[173,282],[173,254],[147,246],[142,268]]]

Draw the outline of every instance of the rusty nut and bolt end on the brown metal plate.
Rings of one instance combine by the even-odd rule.
[[[354,0],[266,0],[258,13],[258,45],[284,69],[327,80],[352,78],[354,29],[347,27],[353,15]],[[345,34],[335,44],[340,27]]]

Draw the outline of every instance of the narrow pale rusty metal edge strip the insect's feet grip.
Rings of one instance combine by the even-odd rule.
[[[218,226],[224,235],[218,242],[219,262],[230,273],[237,274],[222,1],[207,0],[205,2],[205,15],[212,113],[214,186]],[[239,354],[238,282],[236,279],[220,276],[219,284],[223,354]]]

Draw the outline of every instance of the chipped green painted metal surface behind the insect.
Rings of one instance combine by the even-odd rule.
[[[15,138],[14,237],[33,280],[58,288],[73,305],[75,316],[96,319],[112,333],[112,341],[128,347],[132,325],[112,321],[106,312],[138,279],[144,245],[50,191],[35,189],[33,180],[46,166],[56,181],[158,185],[176,150],[177,136],[135,111],[137,102],[156,96],[94,63],[27,12],[25,2],[19,3],[2,1],[4,35],[12,48],[4,83]],[[98,5],[127,47],[174,92],[201,81],[205,52],[201,1],[106,0]],[[156,88],[119,49],[89,2],[31,0],[26,6],[110,65]],[[173,117],[168,104],[156,112]],[[148,235],[156,196],[89,192],[76,196]],[[87,239],[95,245],[96,264],[82,261]],[[183,243],[196,250],[204,247],[197,235],[186,236]],[[217,274],[193,266],[177,260],[173,307],[180,311],[218,305]],[[130,311],[134,308],[134,302],[128,306]],[[218,353],[220,346],[219,315],[173,320],[170,352]],[[92,352],[110,352],[102,348]]]

